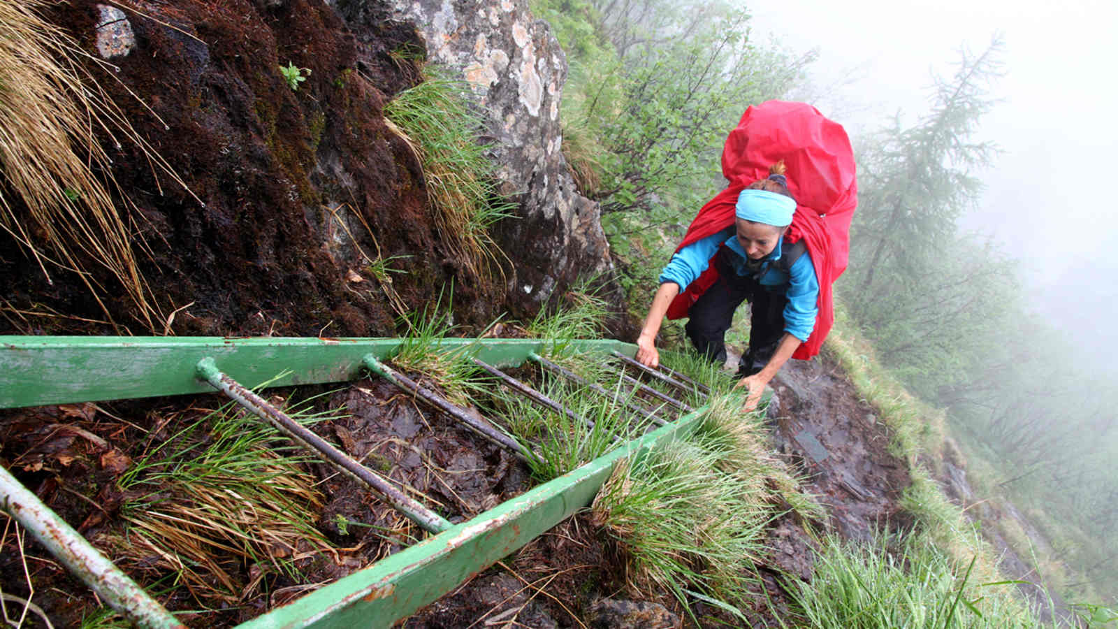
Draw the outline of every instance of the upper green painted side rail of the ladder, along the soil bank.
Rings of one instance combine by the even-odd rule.
[[[366,374],[362,359],[386,358],[399,338],[222,337],[0,337],[0,409],[72,402],[212,393],[195,365],[214,358],[218,368],[249,388],[348,382]],[[616,340],[576,340],[585,351],[629,356],[636,346]],[[514,367],[543,341],[444,339],[442,348],[468,350],[491,365]]]

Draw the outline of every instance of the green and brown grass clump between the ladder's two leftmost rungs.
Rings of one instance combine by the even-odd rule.
[[[288,414],[315,421],[307,409]],[[268,573],[299,579],[295,556],[333,550],[315,526],[325,498],[295,449],[233,403],[187,423],[117,479],[126,527],[111,542],[133,570],[176,574],[203,605],[240,603]],[[260,576],[246,580],[254,565]]]

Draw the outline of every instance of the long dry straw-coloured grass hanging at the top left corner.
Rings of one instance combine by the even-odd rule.
[[[132,129],[88,69],[112,66],[47,22],[40,11],[48,4],[0,0],[0,228],[38,262],[48,283],[50,270],[76,273],[112,321],[102,300],[111,288],[84,269],[83,260],[103,266],[135,304],[141,322],[158,334],[162,317],[136,265],[135,229],[110,193],[112,160],[97,131],[117,147],[122,139],[136,143],[153,169],[186,184]]]

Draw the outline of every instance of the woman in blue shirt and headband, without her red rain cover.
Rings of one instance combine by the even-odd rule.
[[[726,360],[726,330],[742,301],[751,304],[749,350],[739,360],[738,386],[756,407],[765,386],[815,328],[819,283],[804,243],[785,242],[796,200],[788,191],[784,162],[741,190],[733,225],[686,243],[660,275],[660,289],[637,338],[637,360],[656,366],[655,338],[681,287],[689,287],[713,264],[713,284],[688,309],[685,326],[695,349],[712,362]]]

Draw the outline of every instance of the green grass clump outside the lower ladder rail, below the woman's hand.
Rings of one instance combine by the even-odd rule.
[[[743,403],[712,396],[690,434],[623,460],[595,498],[593,520],[626,551],[634,590],[669,591],[689,610],[700,600],[740,613],[778,505],[818,513],[768,452],[760,414],[740,412]]]

